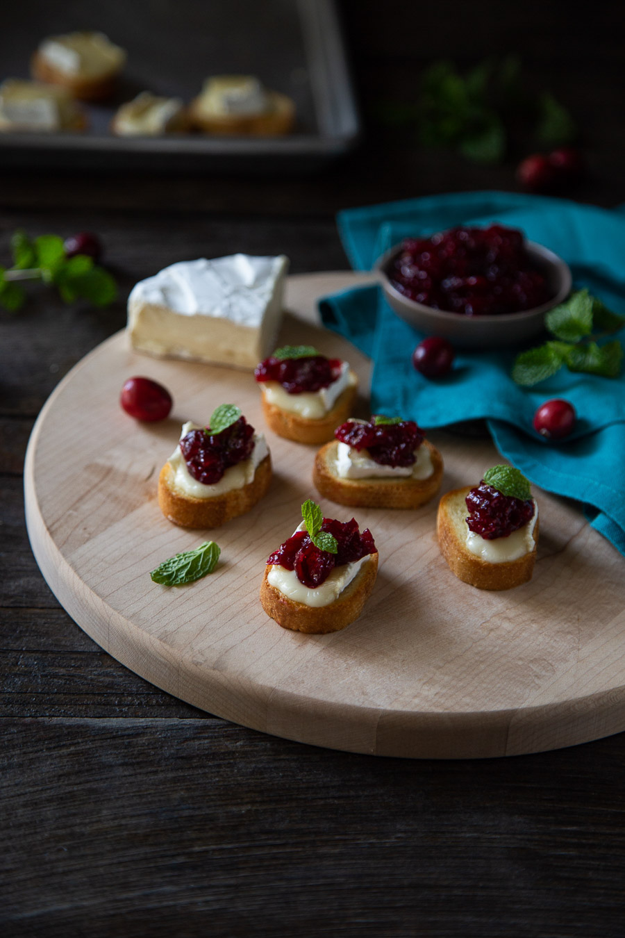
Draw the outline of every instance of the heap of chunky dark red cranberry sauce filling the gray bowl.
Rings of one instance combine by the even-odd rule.
[[[532,310],[553,295],[523,234],[503,225],[406,238],[386,273],[409,299],[465,316]]]

